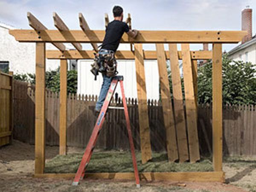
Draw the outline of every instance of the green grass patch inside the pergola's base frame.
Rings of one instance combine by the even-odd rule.
[[[76,173],[83,154],[58,155],[46,163],[46,173]],[[166,153],[153,153],[152,160],[141,163],[137,153],[139,172],[208,172],[213,171],[212,162],[201,158],[198,163],[169,163]],[[87,172],[133,172],[130,151],[94,152]]]

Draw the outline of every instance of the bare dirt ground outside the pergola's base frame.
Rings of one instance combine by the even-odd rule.
[[[82,152],[81,148],[68,148],[68,153]],[[46,147],[49,160],[58,154],[58,147]],[[70,179],[34,178],[34,146],[19,141],[0,148],[0,192],[13,191],[145,191],[145,192],[207,192],[207,191],[255,191],[256,157],[232,157],[224,160],[226,183],[199,182],[142,182],[141,188],[134,181],[83,180],[79,186],[71,186]]]

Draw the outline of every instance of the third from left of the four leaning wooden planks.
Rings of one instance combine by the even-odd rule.
[[[177,44],[169,44],[170,65],[172,73],[172,94],[175,114],[175,128],[177,132],[177,144],[179,161],[189,160],[189,151],[186,136],[186,121],[183,107],[183,96],[180,80],[180,67],[177,53]]]

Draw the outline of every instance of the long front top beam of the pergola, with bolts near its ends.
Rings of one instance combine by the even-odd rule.
[[[103,30],[90,30],[84,34],[82,30],[9,30],[20,42],[80,42],[101,43],[105,36]],[[139,31],[136,38],[126,33],[121,43],[238,43],[247,31]]]

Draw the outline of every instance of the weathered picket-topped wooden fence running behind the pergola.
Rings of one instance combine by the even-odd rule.
[[[15,81],[14,138],[35,143],[35,104],[33,87]],[[28,90],[28,91],[27,91]],[[85,147],[96,121],[94,96],[69,95],[67,97],[67,145]],[[134,145],[140,150],[140,128],[137,100],[128,99],[128,111]],[[121,100],[112,105],[121,104]],[[151,148],[166,151],[166,130],[162,104],[148,101]],[[256,155],[256,111],[253,106],[224,106],[223,151],[228,155]],[[46,92],[46,144],[59,145],[59,98],[57,93]],[[198,105],[198,137],[201,154],[212,152],[212,106]],[[125,116],[122,110],[108,111],[96,147],[129,149]]]

